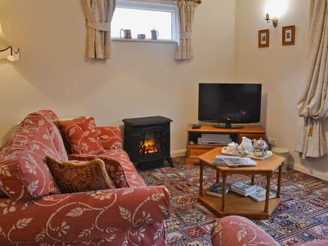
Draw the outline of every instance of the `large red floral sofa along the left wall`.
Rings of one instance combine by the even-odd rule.
[[[121,149],[68,156],[50,110],[29,114],[0,149],[0,245],[166,245],[166,188],[147,187]],[[117,189],[60,194],[44,162],[103,159]]]

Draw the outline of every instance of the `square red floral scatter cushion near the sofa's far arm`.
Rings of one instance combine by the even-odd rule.
[[[65,132],[73,154],[97,155],[105,151],[93,117],[60,122],[59,125]]]

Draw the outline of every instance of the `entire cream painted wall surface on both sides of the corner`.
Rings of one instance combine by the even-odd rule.
[[[279,146],[293,150],[310,0],[285,0],[277,28],[263,20],[268,1],[203,1],[195,16],[196,57],[181,63],[168,43],[113,42],[113,59],[90,60],[83,1],[1,0],[0,22],[22,58],[0,61],[0,143],[27,113],[50,108],[62,118],[93,115],[98,125],[168,116],[174,120],[172,150],[181,154],[186,126],[197,120],[197,84],[235,80],[263,83],[260,124]],[[281,46],[281,27],[294,24],[296,45]],[[266,28],[270,47],[259,49],[257,31]],[[292,152],[290,160],[295,169],[328,178],[326,157],[301,160]]]

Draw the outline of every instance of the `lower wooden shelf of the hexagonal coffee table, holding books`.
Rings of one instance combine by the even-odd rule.
[[[226,211],[223,212],[221,211],[221,197],[207,195],[206,190],[204,190],[203,194],[203,196],[198,196],[197,201],[219,217],[239,215],[249,219],[268,219],[281,201],[281,198],[270,199],[269,211],[268,213],[264,213],[265,201],[257,202],[249,197],[244,197],[230,191],[226,194]]]

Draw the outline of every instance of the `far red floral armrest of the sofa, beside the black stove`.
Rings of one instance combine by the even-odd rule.
[[[123,146],[121,131],[118,127],[97,127],[101,144],[105,150],[121,150]]]

